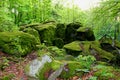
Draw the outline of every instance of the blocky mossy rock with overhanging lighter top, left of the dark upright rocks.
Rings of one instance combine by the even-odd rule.
[[[48,46],[52,45],[56,30],[56,26],[54,24],[42,24],[40,26],[36,26],[35,29],[39,32],[42,43],[45,43]]]

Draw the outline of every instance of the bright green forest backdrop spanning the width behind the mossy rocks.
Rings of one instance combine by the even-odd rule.
[[[80,22],[94,29],[96,39],[108,35],[120,40],[120,1],[104,0],[99,6],[82,11],[67,0],[0,0],[0,31],[19,30],[30,23]],[[74,1],[74,0],[73,0]]]

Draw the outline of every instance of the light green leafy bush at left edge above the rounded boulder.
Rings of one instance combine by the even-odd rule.
[[[1,1],[1,4],[5,3],[5,1]],[[19,28],[14,24],[14,20],[11,16],[9,16],[10,11],[8,10],[8,3],[5,6],[0,7],[0,32],[1,31],[15,31]]]

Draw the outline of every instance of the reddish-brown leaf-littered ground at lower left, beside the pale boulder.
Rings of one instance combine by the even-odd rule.
[[[0,52],[0,56],[0,62],[3,62],[3,66],[1,66],[3,69],[0,70],[0,78],[7,75],[8,77],[12,77],[11,80],[28,80],[24,70],[25,66],[37,57],[34,52],[24,58],[11,57],[2,52]]]

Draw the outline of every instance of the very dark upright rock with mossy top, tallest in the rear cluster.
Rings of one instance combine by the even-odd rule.
[[[76,40],[77,29],[81,27],[80,23],[70,23],[65,30],[65,43],[70,43]]]

